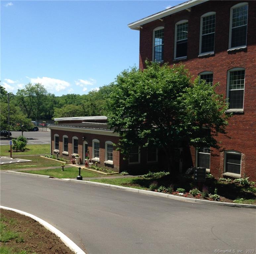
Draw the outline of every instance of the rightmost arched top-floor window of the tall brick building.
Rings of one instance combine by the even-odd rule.
[[[239,3],[230,8],[229,49],[246,47],[248,3]]]

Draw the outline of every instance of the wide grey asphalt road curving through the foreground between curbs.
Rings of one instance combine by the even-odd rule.
[[[195,204],[4,172],[1,204],[46,220],[86,253],[256,252],[255,209]]]

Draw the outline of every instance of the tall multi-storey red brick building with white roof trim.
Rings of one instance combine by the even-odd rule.
[[[194,78],[219,82],[216,91],[233,113],[228,137],[218,136],[223,150],[179,148],[178,168],[193,164],[216,178],[256,181],[256,2],[191,0],[128,26],[140,33],[141,69],[146,59],[181,62]]]

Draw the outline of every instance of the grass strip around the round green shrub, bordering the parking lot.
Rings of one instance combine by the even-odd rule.
[[[10,156],[10,145],[0,146],[0,156]],[[46,154],[50,153],[50,144],[26,145],[24,152],[12,151],[12,157],[16,158],[17,155],[30,155],[30,154]]]

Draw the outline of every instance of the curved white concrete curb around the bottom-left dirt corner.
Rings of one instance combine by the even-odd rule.
[[[56,234],[63,241],[63,243],[66,246],[68,246],[72,251],[74,251],[76,254],[85,254],[85,252],[82,249],[80,249],[72,240],[70,240],[64,233],[60,232],[58,229],[53,227],[48,222],[30,214],[30,213],[26,213],[26,212],[21,211],[21,210],[17,210],[17,209],[2,206],[2,205],[0,205],[0,208],[6,209],[6,210],[11,210],[11,211],[14,211],[16,213],[23,214],[27,217],[32,218],[33,220],[35,220],[35,221],[39,222],[41,225],[43,225],[46,229],[48,229],[52,233]]]

